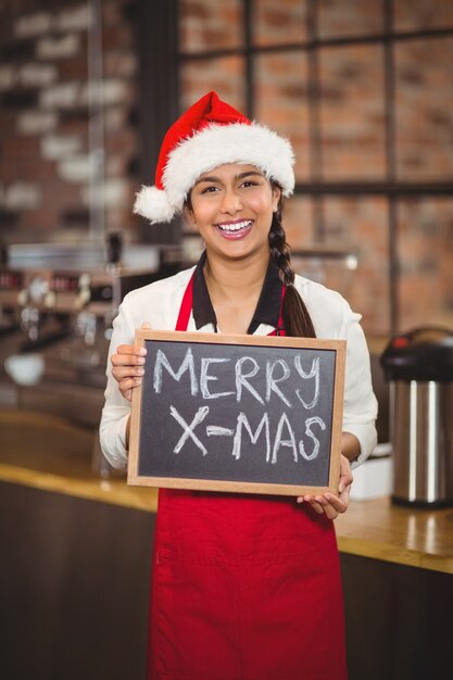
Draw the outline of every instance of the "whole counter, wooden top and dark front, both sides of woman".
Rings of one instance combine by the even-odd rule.
[[[158,494],[101,478],[95,444],[92,429],[0,410],[2,677],[146,678]],[[350,680],[450,677],[453,508],[352,501],[335,526]]]

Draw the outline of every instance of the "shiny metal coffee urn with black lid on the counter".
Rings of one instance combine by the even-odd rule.
[[[394,336],[380,363],[390,382],[393,501],[453,505],[453,330]]]

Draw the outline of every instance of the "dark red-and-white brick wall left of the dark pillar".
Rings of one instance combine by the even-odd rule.
[[[101,3],[99,81],[89,67],[92,3],[1,3],[0,226],[7,242],[86,239],[99,215],[101,228],[104,221],[106,230],[125,228],[134,237],[137,54],[127,9],[124,0]]]

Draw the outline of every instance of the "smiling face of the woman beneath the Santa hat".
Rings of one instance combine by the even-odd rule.
[[[279,199],[280,189],[254,165],[225,164],[197,180],[186,217],[200,232],[207,253],[268,257],[268,232]]]

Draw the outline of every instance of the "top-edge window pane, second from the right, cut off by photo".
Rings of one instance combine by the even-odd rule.
[[[319,38],[382,32],[382,0],[319,0],[317,4]]]

